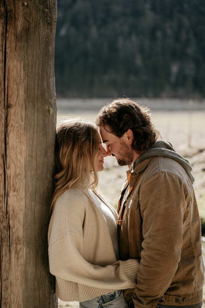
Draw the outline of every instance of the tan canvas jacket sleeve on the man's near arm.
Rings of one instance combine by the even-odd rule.
[[[167,172],[157,173],[141,187],[144,240],[133,292],[135,307],[157,307],[171,284],[181,256],[186,196],[184,181]]]

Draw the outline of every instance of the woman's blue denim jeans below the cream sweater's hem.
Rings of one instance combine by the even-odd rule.
[[[123,290],[104,294],[85,302],[79,302],[80,308],[129,308]]]

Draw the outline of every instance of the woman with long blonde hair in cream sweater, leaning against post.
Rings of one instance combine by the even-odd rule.
[[[57,129],[56,144],[48,231],[56,295],[63,301],[79,301],[80,307],[127,308],[121,289],[134,288],[139,261],[117,261],[117,213],[96,190],[107,156],[97,127],[82,120],[66,121]]]

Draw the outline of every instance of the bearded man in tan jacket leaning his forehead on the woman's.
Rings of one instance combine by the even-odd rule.
[[[188,160],[157,141],[148,109],[117,99],[96,124],[108,155],[131,165],[118,205],[120,257],[140,259],[131,307],[199,308],[203,296],[201,224]],[[133,304],[134,303],[134,304]]]

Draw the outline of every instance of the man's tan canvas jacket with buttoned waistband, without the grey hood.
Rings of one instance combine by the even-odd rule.
[[[127,301],[139,308],[202,306],[201,224],[187,173],[175,160],[152,156],[127,178],[118,207],[120,258],[140,259]]]

